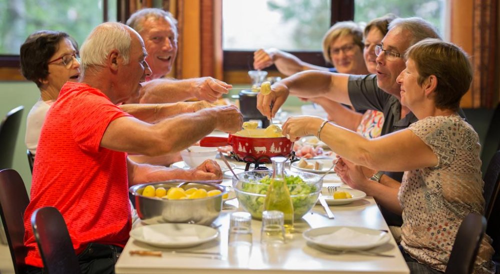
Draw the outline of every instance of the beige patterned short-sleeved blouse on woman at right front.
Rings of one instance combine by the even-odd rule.
[[[401,245],[419,262],[444,271],[461,221],[469,212],[484,211],[479,137],[458,115],[426,117],[408,129],[432,149],[438,163],[404,172],[398,193]],[[490,242],[485,235],[474,273],[493,273]]]

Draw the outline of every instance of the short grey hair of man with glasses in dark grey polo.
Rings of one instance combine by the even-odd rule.
[[[426,38],[442,40],[435,26],[420,17],[395,18],[389,23],[389,30],[395,27],[411,33],[410,46]]]

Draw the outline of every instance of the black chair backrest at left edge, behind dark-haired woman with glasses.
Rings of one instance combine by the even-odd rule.
[[[12,168],[12,158],[14,157],[15,141],[19,133],[22,110],[24,107],[17,106],[8,111],[0,124],[0,169]]]

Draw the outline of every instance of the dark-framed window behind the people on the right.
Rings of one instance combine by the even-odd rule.
[[[324,66],[321,40],[329,26],[343,20],[368,22],[388,12],[423,17],[446,34],[446,1],[222,0],[224,70],[251,69],[253,51],[268,47]]]

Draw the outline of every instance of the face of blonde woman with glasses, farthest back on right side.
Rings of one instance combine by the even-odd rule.
[[[360,74],[366,71],[363,52],[352,35],[343,35],[330,43],[329,55],[340,73]]]

